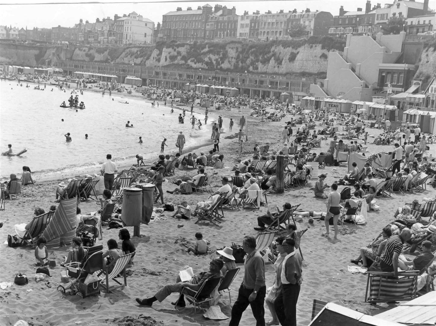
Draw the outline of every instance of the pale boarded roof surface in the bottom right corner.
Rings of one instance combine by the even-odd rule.
[[[436,295],[430,291],[374,317],[406,325],[436,325],[435,309]]]

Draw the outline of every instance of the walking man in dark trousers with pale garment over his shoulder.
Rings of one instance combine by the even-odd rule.
[[[283,240],[282,247],[287,255],[277,269],[277,292],[274,309],[282,326],[296,326],[296,306],[302,278],[302,261],[295,250],[295,240]]]

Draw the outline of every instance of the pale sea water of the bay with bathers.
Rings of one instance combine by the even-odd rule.
[[[76,112],[76,109],[59,107],[62,101],[68,103],[71,90],[60,91],[50,84],[43,91],[34,90],[34,83],[29,83],[29,88],[25,86],[25,83],[20,87],[17,82],[0,82],[0,150],[7,151],[7,144],[12,144],[14,153],[27,148],[22,156],[1,156],[3,178],[10,173],[21,173],[24,165],[32,172],[54,174],[81,167],[97,168],[106,161],[108,153],[119,164],[136,163],[136,154],[144,156],[144,160],[157,160],[164,138],[168,145],[165,153],[177,153],[175,144],[180,131],[185,135],[185,148],[210,139],[210,124],[204,125],[202,121],[201,130],[197,126],[192,129],[190,108],[185,123],[179,124],[177,117],[182,111],[175,109],[171,114],[170,101],[166,107],[162,101],[159,108],[157,105],[152,108],[151,103],[141,98],[123,98],[117,92],[112,92],[112,97],[106,92],[102,97],[101,93],[85,90],[78,96],[79,103],[83,101],[86,108]],[[41,87],[44,87],[42,83]],[[126,101],[129,104],[120,103]],[[194,116],[204,120],[204,114],[194,111]],[[127,121],[134,128],[126,128]],[[67,132],[72,142],[65,142]],[[143,144],[138,143],[139,136]]]

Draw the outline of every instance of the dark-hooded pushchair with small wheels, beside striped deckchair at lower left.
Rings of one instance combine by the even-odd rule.
[[[85,298],[89,295],[100,294],[101,280],[96,279],[86,284],[86,277],[103,269],[102,249],[103,246],[90,247],[85,263],[83,264],[77,261],[65,264],[65,276],[70,277],[68,291],[70,295],[78,295]],[[63,294],[67,293],[63,285],[59,285],[57,290],[61,291]]]

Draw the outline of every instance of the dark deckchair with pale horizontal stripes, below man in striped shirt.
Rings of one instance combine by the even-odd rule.
[[[368,272],[364,302],[410,301],[416,298],[419,271]]]

